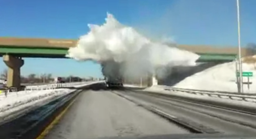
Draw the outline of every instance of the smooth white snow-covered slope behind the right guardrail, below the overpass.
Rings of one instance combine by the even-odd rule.
[[[256,93],[256,68],[254,63],[243,63],[243,71],[253,72],[250,90],[244,84],[244,92]],[[247,77],[243,77],[243,82],[247,82]],[[214,91],[232,91],[237,92],[236,85],[236,64],[235,62],[223,63],[213,66],[204,71],[189,76],[177,83],[174,87],[190,88],[198,90],[214,90]]]

